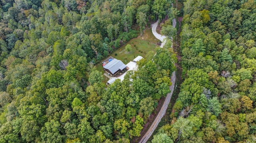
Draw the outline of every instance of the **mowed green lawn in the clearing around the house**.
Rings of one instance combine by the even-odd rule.
[[[159,41],[160,40],[158,40],[158,39],[156,39],[156,37],[154,37],[154,35],[152,33],[152,29],[147,28],[144,31],[144,35],[138,36],[137,38],[134,38],[134,39],[131,39],[126,44],[122,45],[122,47],[118,48],[116,51],[114,51],[112,54],[110,54],[109,56],[112,56],[118,60],[121,60],[124,64],[127,64],[130,61],[132,61],[133,59],[135,59],[137,56],[142,56],[145,58],[146,54],[149,51],[154,51],[156,49],[156,47],[158,47],[158,45],[156,45],[156,43]],[[125,46],[127,44],[130,44],[132,46],[132,50],[129,53],[125,50]],[[115,55],[115,53],[117,55]],[[103,59],[102,61],[104,61],[105,59]],[[102,74],[104,74],[105,71],[102,68],[102,61],[95,66],[98,71],[100,71],[100,72],[102,72]],[[104,80],[102,82],[106,83],[108,80],[109,80],[109,78],[104,76]]]

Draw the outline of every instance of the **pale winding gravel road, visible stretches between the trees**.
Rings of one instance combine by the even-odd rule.
[[[176,24],[176,21],[175,21]],[[158,25],[158,21],[155,22],[154,24],[152,24],[152,33],[154,34],[154,36],[159,39],[160,41],[162,41],[162,44],[160,47],[164,47],[165,44],[165,38],[166,36],[164,35],[160,35],[156,32],[156,27]],[[174,26],[174,25],[173,25]],[[174,26],[175,27],[175,26]],[[158,123],[160,123],[162,117],[164,116],[164,114],[166,113],[166,110],[168,108],[168,105],[170,103],[170,100],[172,98],[172,93],[174,91],[174,85],[175,85],[175,81],[176,81],[176,74],[175,71],[172,72],[172,77],[171,77],[171,82],[172,85],[169,87],[171,92],[168,93],[166,95],[166,98],[164,100],[164,104],[162,105],[158,115],[156,116],[156,119],[153,121],[153,123],[151,124],[150,128],[148,129],[148,131],[145,133],[145,135],[142,137],[142,139],[139,141],[139,143],[146,143],[148,141],[148,139],[150,138],[150,136],[152,135],[152,133],[154,132],[154,130],[156,129],[156,127],[158,126]]]

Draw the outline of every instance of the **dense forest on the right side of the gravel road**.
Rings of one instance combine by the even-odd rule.
[[[256,1],[183,6],[184,81],[152,143],[256,143]]]

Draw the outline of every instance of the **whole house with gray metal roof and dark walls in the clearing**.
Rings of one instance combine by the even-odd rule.
[[[103,69],[112,76],[114,76],[118,72],[126,69],[126,65],[124,65],[122,61],[113,58],[106,65],[103,66]]]

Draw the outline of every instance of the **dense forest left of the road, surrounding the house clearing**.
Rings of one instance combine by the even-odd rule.
[[[176,70],[170,47],[110,86],[94,67],[170,0],[1,0],[0,143],[129,143]],[[149,24],[150,25],[150,24]],[[137,45],[138,46],[138,45]]]

